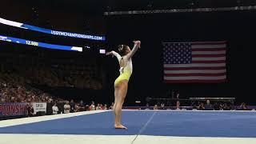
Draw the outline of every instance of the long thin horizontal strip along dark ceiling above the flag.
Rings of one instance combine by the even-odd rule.
[[[198,8],[198,9],[172,9],[172,10],[112,11],[112,12],[104,12],[104,15],[165,14],[165,13],[190,13],[190,12],[212,12],[212,11],[233,11],[233,10],[256,10],[256,6],[235,6],[235,7]]]

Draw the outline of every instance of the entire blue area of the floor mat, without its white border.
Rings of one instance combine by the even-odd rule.
[[[154,117],[151,118],[153,114]],[[113,118],[111,111],[86,114],[2,127],[0,134],[136,135],[140,133],[180,137],[256,138],[254,112],[123,111],[122,124],[127,126],[128,130],[115,130]],[[148,123],[145,126],[146,122]]]

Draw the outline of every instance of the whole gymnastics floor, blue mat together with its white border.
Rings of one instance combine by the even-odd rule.
[[[0,144],[255,144],[256,111],[123,110],[113,128],[111,110],[0,121]]]

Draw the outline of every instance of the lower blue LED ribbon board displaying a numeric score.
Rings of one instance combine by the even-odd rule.
[[[38,46],[38,47],[45,47],[48,49],[55,49],[55,50],[74,50],[74,51],[82,51],[82,47],[78,46],[61,46],[61,45],[53,45],[49,43],[44,42],[34,42],[26,39],[21,38],[12,38],[12,37],[6,37],[3,35],[0,35],[0,41],[6,41],[6,42],[15,42],[30,46]]]

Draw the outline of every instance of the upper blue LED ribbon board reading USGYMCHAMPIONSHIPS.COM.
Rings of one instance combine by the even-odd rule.
[[[22,29],[34,30],[34,31],[38,31],[41,33],[45,33],[45,34],[53,34],[53,35],[59,35],[59,36],[64,36],[64,37],[71,37],[71,38],[92,39],[92,40],[97,40],[97,41],[106,41],[105,36],[76,34],[76,33],[70,33],[70,32],[65,32],[65,31],[49,30],[49,29],[44,29],[42,27],[38,27],[38,26],[27,25],[27,24],[21,23],[21,22],[10,21],[10,20],[4,19],[4,18],[0,18],[0,23],[7,25],[7,26],[15,26],[15,27],[22,28]]]

